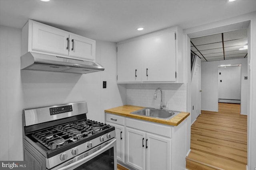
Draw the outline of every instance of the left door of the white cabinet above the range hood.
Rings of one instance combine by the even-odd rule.
[[[68,55],[68,37],[66,31],[32,22],[32,51]]]

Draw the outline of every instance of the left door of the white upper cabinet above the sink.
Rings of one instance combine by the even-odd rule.
[[[118,82],[141,82],[141,40],[118,45]]]

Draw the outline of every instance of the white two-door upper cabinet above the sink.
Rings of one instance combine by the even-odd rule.
[[[182,39],[172,27],[117,43],[117,82],[183,83]]]

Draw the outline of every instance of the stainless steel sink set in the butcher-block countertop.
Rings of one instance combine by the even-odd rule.
[[[171,119],[178,113],[180,113],[180,111],[160,110],[160,109],[154,109],[150,107],[146,107],[144,109],[131,112],[131,114],[154,117],[154,118],[165,119],[165,120]]]

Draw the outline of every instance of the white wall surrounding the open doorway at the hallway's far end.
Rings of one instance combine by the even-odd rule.
[[[227,64],[241,65],[241,114],[247,114],[248,80],[247,58],[201,63],[201,108],[202,110],[218,111],[218,66]]]

